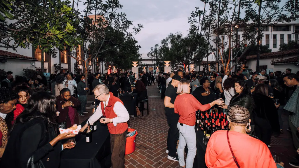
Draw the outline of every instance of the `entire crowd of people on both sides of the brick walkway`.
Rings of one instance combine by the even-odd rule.
[[[140,72],[139,79],[132,72],[89,72],[87,79],[82,74],[60,73],[51,74],[49,80],[40,75],[28,79],[13,77],[13,72],[7,72],[1,77],[0,88],[0,167],[25,167],[31,161],[45,167],[59,167],[57,156],[61,150],[74,147],[71,143],[62,144],[61,140],[75,135],[59,134],[58,128],[78,125],[80,131],[86,129],[87,125],[79,125],[79,115],[87,113],[87,94],[95,97],[95,112],[88,121],[92,125],[100,119],[101,123],[108,125],[112,168],[124,167],[129,113],[119,95],[135,92],[137,100],[147,99],[147,86],[155,85],[155,82],[164,100],[169,125],[166,149],[169,160],[178,161],[181,167],[193,167],[196,111],[204,112],[215,107],[227,115],[230,131],[217,131],[211,136],[205,156],[208,167],[283,166],[283,163],[274,163],[269,148],[271,136],[284,131],[283,112],[289,112],[288,129],[292,132],[295,149],[299,149],[299,77],[291,72],[291,69],[286,69],[285,74],[280,71],[266,74],[261,70],[244,75],[242,69],[236,73],[177,70],[170,73]],[[111,113],[106,112],[107,108]],[[237,143],[241,140],[249,144],[248,150]],[[224,145],[226,142],[231,143],[227,146]],[[186,145],[188,155],[185,162]],[[11,164],[10,157],[19,162]],[[50,157],[55,159],[49,162],[47,158]],[[296,162],[289,164],[299,166]]]

